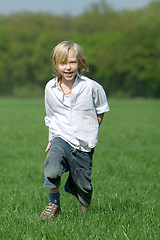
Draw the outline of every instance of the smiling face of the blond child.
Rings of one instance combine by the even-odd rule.
[[[58,65],[58,71],[62,77],[62,81],[74,82],[78,72],[77,53],[74,49],[69,50],[67,61]]]

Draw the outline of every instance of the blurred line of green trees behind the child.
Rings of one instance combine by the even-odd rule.
[[[53,77],[50,53],[77,42],[89,72],[113,97],[160,97],[160,2],[116,12],[100,1],[83,14],[0,15],[0,95],[39,97]]]

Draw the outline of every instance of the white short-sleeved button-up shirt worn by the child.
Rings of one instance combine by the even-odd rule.
[[[98,142],[97,114],[110,111],[105,91],[97,82],[77,74],[70,102],[64,98],[58,79],[50,80],[45,88],[45,124],[51,139],[58,136],[74,148],[90,152]]]

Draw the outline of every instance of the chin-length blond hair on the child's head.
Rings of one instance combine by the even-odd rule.
[[[88,71],[88,63],[83,49],[77,43],[63,41],[59,43],[51,53],[52,67],[57,76],[59,76],[58,65],[67,61],[68,52],[70,49],[74,49],[77,53],[79,73]]]

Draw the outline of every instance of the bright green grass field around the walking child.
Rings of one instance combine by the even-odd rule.
[[[0,100],[1,240],[159,240],[160,100],[110,100],[93,160],[87,216],[63,190],[63,214],[39,221],[43,188],[43,100]]]

